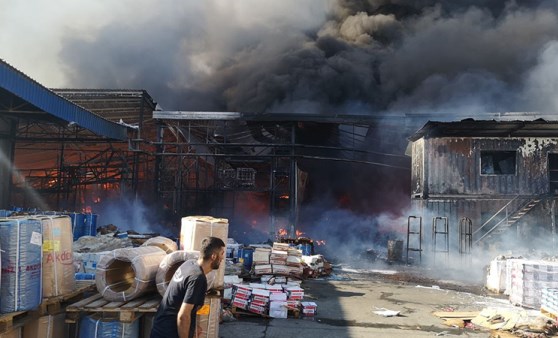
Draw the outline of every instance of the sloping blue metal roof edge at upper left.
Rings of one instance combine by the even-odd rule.
[[[0,87],[46,113],[86,128],[97,135],[117,140],[128,138],[128,127],[104,119],[66,100],[23,72],[0,59]]]

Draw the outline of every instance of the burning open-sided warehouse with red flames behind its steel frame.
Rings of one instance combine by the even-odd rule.
[[[150,224],[130,228],[172,232],[183,216],[210,214],[231,220],[231,236],[265,240],[301,235],[301,205],[322,183],[339,185],[341,166],[409,176],[406,140],[376,136],[379,118],[163,111],[144,90],[51,90],[0,65],[4,209],[103,216],[141,200],[132,208],[149,206]]]

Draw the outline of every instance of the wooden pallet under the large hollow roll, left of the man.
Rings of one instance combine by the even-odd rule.
[[[98,314],[103,318],[131,323],[142,314],[155,313],[161,302],[159,294],[145,295],[125,302],[111,302],[97,293],[66,307],[66,323],[75,324],[80,313]]]

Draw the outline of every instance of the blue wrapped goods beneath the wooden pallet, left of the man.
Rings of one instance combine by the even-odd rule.
[[[99,316],[84,316],[79,322],[80,338],[137,338],[139,337],[140,319],[132,323],[123,323],[117,320],[101,319]]]

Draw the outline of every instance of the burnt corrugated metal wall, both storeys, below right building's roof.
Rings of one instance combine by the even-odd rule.
[[[515,174],[481,174],[481,151],[515,151]],[[554,229],[548,207],[552,200],[548,195],[550,153],[558,153],[558,140],[444,137],[415,141],[411,204],[414,215],[423,217],[426,238],[431,236],[433,217],[447,217],[450,242],[456,248],[464,217],[472,221],[476,231],[492,216],[511,215],[533,199],[541,202],[516,224],[516,231],[529,234]],[[504,212],[498,213],[501,209]],[[490,227],[488,223],[473,238]]]

